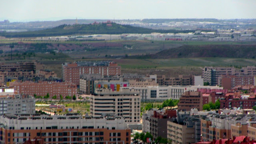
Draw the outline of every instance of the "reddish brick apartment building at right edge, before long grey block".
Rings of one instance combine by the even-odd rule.
[[[222,86],[224,89],[232,89],[236,86],[255,85],[256,76],[226,76],[222,75],[218,77],[218,86]]]

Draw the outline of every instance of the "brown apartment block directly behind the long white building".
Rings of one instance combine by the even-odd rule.
[[[193,76],[179,75],[178,77],[166,77],[165,75],[157,76],[157,83],[160,86],[190,86],[194,85]]]

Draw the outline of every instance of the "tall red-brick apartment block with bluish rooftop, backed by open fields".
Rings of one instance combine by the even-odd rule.
[[[121,75],[121,66],[112,61],[82,61],[62,64],[63,81],[79,85],[79,79],[82,74]]]

